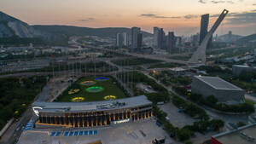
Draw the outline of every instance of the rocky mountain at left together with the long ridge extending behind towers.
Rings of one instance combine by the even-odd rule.
[[[71,36],[114,37],[116,33],[131,33],[131,28],[106,27],[90,28],[79,26],[30,26],[9,14],[0,11],[0,44],[67,44]],[[152,37],[151,33],[143,32],[143,37]]]

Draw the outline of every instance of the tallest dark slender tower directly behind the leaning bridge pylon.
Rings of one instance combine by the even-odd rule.
[[[209,25],[209,14],[201,15],[201,29],[200,29],[199,44],[201,44],[201,42],[207,36],[208,25]]]

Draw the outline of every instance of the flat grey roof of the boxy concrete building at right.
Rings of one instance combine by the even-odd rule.
[[[200,79],[204,83],[212,86],[214,89],[242,90],[242,89],[236,87],[236,85],[230,84],[218,77],[195,76],[195,78]]]

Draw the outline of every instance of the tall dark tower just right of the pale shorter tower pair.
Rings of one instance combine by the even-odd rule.
[[[131,52],[136,52],[142,47],[143,35],[141,33],[141,28],[132,27],[131,28]]]

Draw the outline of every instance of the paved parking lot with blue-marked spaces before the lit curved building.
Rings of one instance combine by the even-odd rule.
[[[174,142],[165,130],[155,124],[154,118],[151,118],[96,129],[26,130],[20,136],[18,144],[87,144],[96,141],[104,144],[147,144],[162,136],[166,136],[166,143]]]

